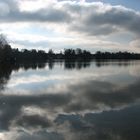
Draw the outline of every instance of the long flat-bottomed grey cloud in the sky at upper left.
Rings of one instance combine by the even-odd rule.
[[[12,11],[7,16],[1,18],[1,22],[67,22],[69,15],[60,10],[39,10],[37,12]]]

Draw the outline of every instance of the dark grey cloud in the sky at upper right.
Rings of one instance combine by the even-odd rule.
[[[140,14],[122,7],[112,7],[104,13],[90,15],[87,25],[109,25],[140,34]]]

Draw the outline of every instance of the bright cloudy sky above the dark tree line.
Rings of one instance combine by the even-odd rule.
[[[0,0],[13,48],[140,52],[139,0]]]

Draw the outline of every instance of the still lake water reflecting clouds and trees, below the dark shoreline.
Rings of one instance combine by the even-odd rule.
[[[140,140],[140,61],[1,66],[0,140]]]

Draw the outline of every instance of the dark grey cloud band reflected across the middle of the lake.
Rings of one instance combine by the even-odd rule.
[[[125,88],[117,88],[106,82],[90,81],[80,85],[70,86],[71,94],[41,94],[33,95],[1,95],[0,120],[1,130],[8,130],[13,120],[20,126],[49,127],[49,120],[44,116],[22,115],[22,107],[38,106],[49,111],[54,110],[59,115],[59,110],[66,113],[84,112],[86,110],[103,111],[105,108],[117,109],[137,102],[140,98],[140,82]],[[116,90],[114,90],[116,89]],[[135,91],[135,93],[133,93]],[[70,96],[71,95],[71,96]],[[102,106],[104,105],[104,109]],[[105,109],[106,110],[106,109]],[[20,115],[21,114],[21,115]],[[18,117],[19,116],[19,117]],[[24,122],[24,123],[23,123]]]

